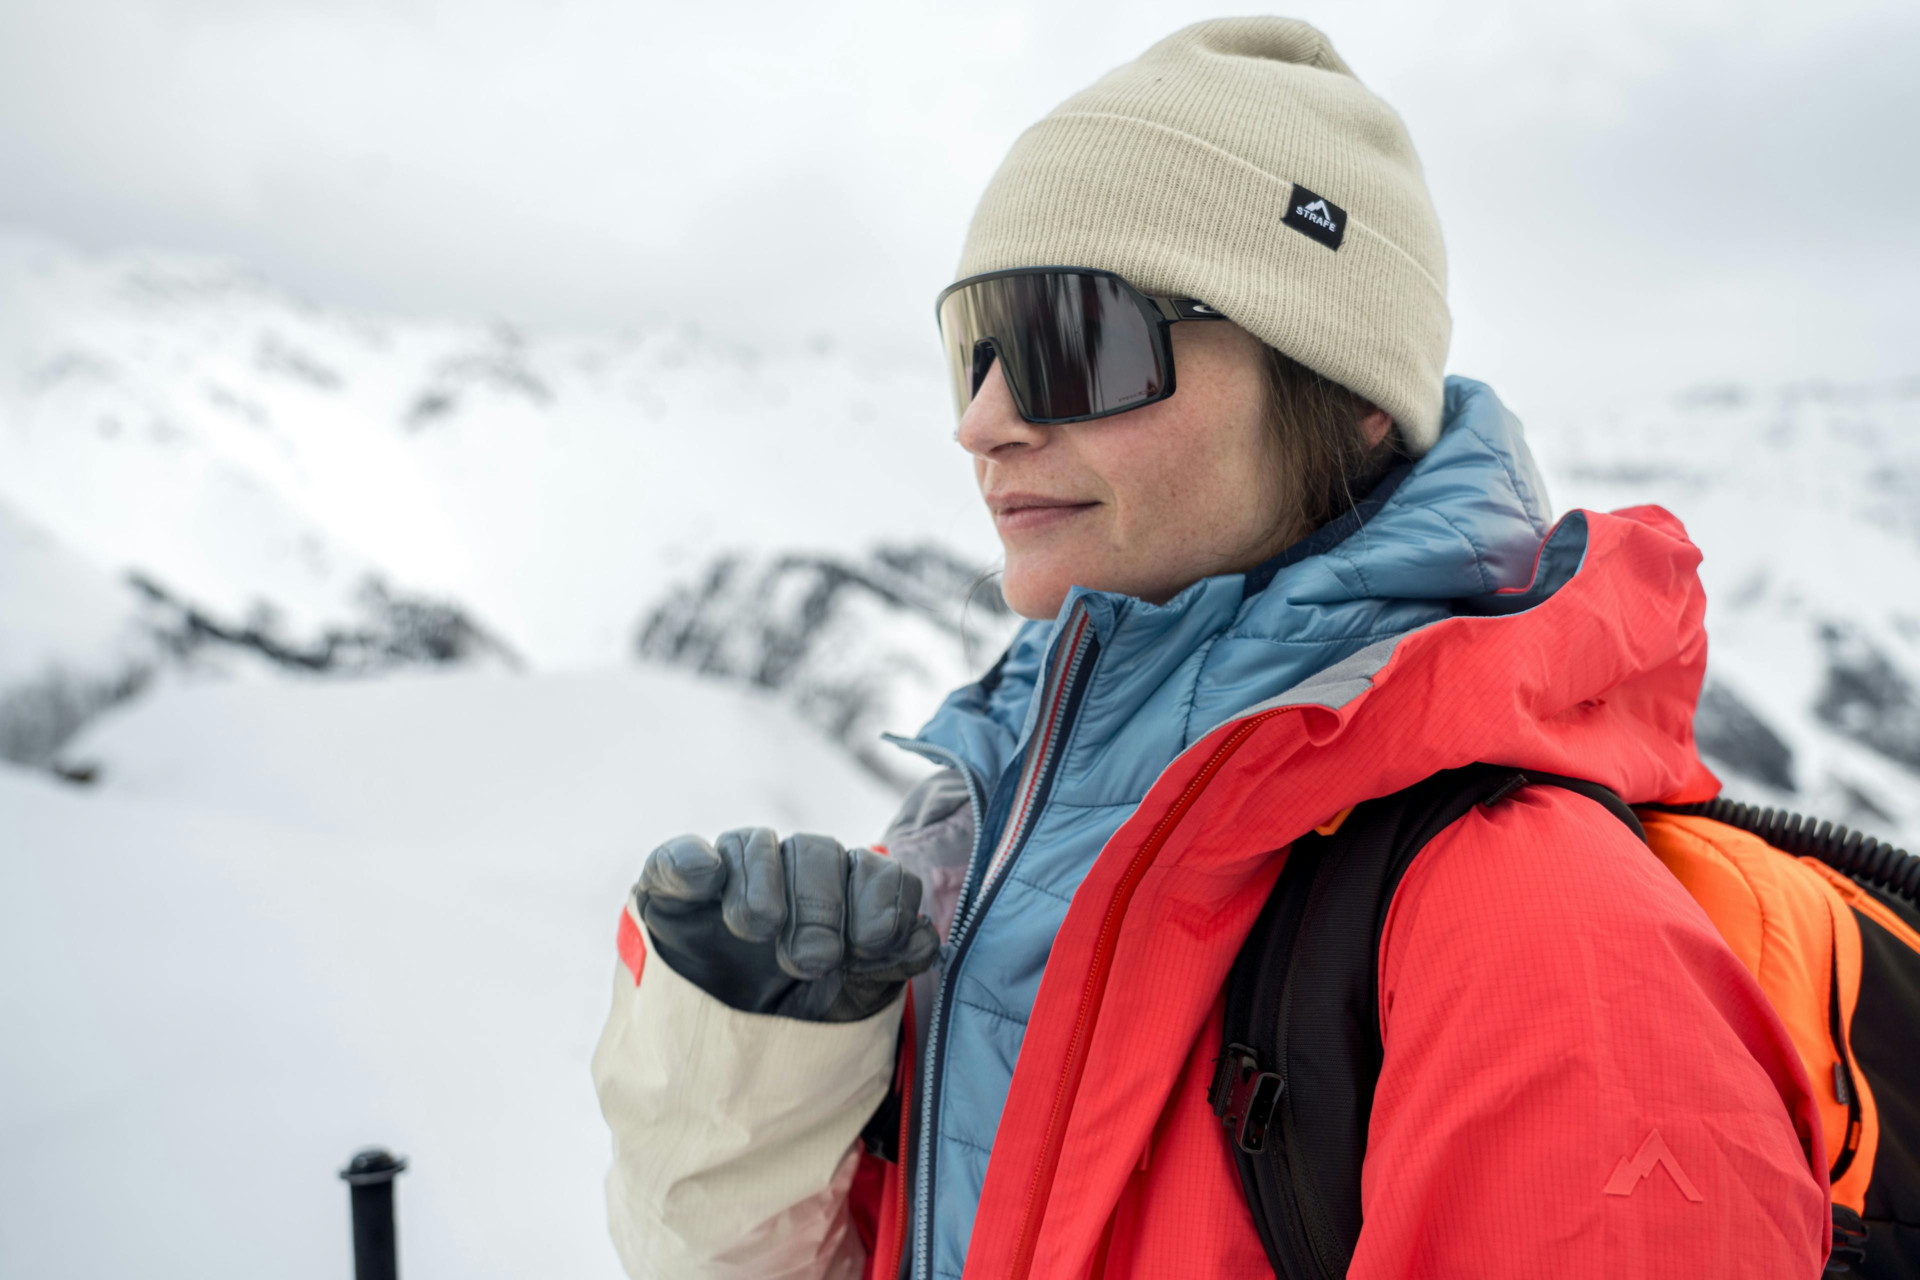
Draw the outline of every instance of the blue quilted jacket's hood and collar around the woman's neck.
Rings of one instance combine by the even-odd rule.
[[[1452,616],[1457,601],[1523,585],[1548,520],[1519,420],[1484,384],[1448,378],[1440,441],[1354,510],[1165,604],[1075,587],[1058,618],[1021,628],[995,672],[958,689],[918,741],[993,791],[1031,733],[1033,689],[1062,624],[1085,608],[1100,656],[1056,796],[1137,800],[1238,710],[1377,639]],[[1106,752],[1123,731],[1127,750]]]

